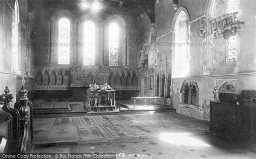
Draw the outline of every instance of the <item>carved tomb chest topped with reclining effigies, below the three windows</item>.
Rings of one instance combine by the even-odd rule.
[[[107,83],[103,85],[97,85],[96,83],[91,85],[87,91],[86,107],[90,112],[115,112],[116,106],[116,90],[113,90]]]

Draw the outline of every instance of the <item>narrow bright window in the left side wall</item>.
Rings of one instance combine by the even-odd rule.
[[[19,71],[19,8],[18,2],[14,4],[14,15],[12,20],[12,71]]]

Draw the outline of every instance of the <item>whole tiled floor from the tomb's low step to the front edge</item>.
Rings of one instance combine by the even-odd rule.
[[[63,143],[73,142],[75,143]],[[116,153],[117,158],[255,158],[208,133],[208,122],[173,111],[36,118],[33,153]]]

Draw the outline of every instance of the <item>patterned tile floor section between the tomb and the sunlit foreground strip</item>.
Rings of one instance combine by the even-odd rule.
[[[82,117],[35,118],[36,144],[103,142],[153,138],[160,133],[208,132],[207,122],[173,111],[146,114],[116,114]]]

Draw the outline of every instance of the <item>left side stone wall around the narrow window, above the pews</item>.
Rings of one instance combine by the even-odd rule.
[[[33,77],[31,77],[35,67],[33,64],[33,55],[31,53],[30,25],[31,17],[28,12],[28,1],[18,1],[19,23],[18,26],[18,64],[19,70],[13,70],[14,61],[12,58],[12,27],[14,0],[0,1],[0,91],[5,86],[9,86],[10,93],[14,95],[12,104],[16,101],[16,94],[21,88],[21,78],[25,77],[28,90],[33,88]],[[31,80],[32,79],[32,80]],[[29,82],[28,82],[29,81]]]

